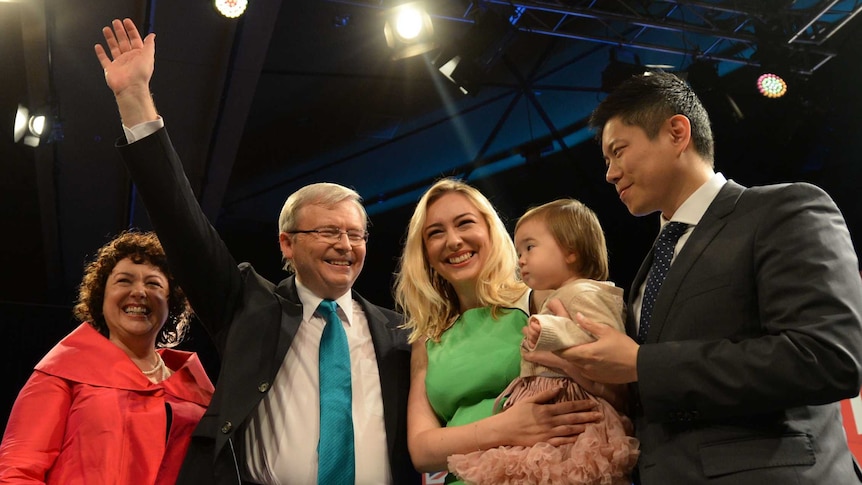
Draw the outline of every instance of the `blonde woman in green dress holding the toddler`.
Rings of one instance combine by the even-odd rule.
[[[443,179],[419,200],[395,286],[413,345],[407,439],[419,471],[446,470],[453,454],[572,443],[601,416],[589,400],[547,404],[553,389],[494,414],[520,371],[529,292],[517,264],[503,222],[475,188]]]

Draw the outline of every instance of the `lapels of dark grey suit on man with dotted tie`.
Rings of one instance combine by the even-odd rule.
[[[659,290],[655,306],[653,306],[650,329],[646,339],[647,343],[659,341],[662,330],[667,323],[668,315],[673,309],[674,302],[679,295],[680,288],[685,282],[686,276],[701,254],[703,254],[724,227],[727,222],[727,216],[735,209],[736,203],[744,190],[745,188],[741,185],[728,181],[718,192],[715,200],[709,205],[700,222],[695,226],[682,251],[674,258],[661,290]],[[649,265],[652,264],[652,251],[647,256],[647,260],[644,260],[644,263],[641,265],[641,269],[635,279],[638,286],[635,286],[633,291],[637,291],[636,288],[646,278],[646,272],[649,271]]]

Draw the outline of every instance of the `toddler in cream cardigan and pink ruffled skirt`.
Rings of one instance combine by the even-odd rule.
[[[522,354],[558,351],[595,338],[548,307],[557,301],[570,315],[580,312],[625,332],[623,290],[608,279],[608,250],[595,213],[574,199],[559,199],[527,211],[515,225],[521,279],[533,291],[551,291],[530,317]],[[556,401],[593,399],[604,419],[586,425],[575,443],[501,446],[449,457],[449,469],[480,485],[627,485],[638,458],[631,421],[565,372],[527,360],[521,376],[501,395],[503,408],[536,393],[560,389]],[[625,409],[625,400],[619,403]]]

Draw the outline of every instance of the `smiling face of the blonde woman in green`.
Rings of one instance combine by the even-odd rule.
[[[428,206],[422,241],[429,264],[459,299],[473,299],[490,244],[488,223],[479,209],[461,193],[440,196]]]

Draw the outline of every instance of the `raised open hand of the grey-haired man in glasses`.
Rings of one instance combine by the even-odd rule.
[[[131,19],[114,19],[102,34],[108,52],[96,44],[96,57],[105,71],[105,82],[117,99],[123,124],[135,124],[158,118],[150,96],[150,78],[155,68],[156,35],[141,39]],[[110,53],[110,55],[109,55]]]

